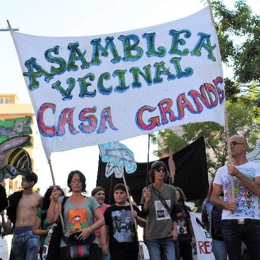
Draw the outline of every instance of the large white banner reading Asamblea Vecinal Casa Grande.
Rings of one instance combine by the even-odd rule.
[[[47,158],[175,125],[225,124],[221,57],[209,7],[108,35],[11,34]]]

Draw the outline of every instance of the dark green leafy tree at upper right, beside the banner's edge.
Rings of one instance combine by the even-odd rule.
[[[205,1],[206,2],[206,1]],[[260,17],[253,15],[245,0],[229,10],[222,1],[212,1],[212,12],[222,61],[233,68],[234,77],[224,79],[226,97],[233,102],[239,94],[255,93],[250,100],[260,106]]]

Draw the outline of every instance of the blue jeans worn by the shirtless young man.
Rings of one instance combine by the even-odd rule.
[[[13,235],[13,253],[16,260],[38,258],[39,237],[32,235],[32,226],[15,228]]]

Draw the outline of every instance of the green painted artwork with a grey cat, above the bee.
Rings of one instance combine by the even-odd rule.
[[[30,117],[0,120],[0,143],[11,137],[32,134],[30,123]]]

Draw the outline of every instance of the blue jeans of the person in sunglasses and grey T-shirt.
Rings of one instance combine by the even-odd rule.
[[[174,241],[172,237],[147,239],[146,246],[150,260],[175,260]]]

